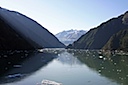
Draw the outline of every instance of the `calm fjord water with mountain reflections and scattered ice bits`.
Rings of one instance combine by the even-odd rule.
[[[45,79],[63,85],[128,85],[128,56],[55,49],[2,56],[26,58],[0,63],[0,85],[40,85]]]

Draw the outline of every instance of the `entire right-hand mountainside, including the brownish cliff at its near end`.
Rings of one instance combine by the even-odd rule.
[[[128,11],[92,28],[67,48],[128,50]]]

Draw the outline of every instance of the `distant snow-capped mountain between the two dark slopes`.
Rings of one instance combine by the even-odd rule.
[[[80,38],[86,31],[84,30],[67,30],[57,33],[55,36],[65,45],[72,44],[78,38]]]

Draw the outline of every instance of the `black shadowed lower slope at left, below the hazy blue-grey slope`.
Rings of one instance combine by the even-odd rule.
[[[34,46],[29,44],[19,34],[0,19],[0,50],[32,50]]]

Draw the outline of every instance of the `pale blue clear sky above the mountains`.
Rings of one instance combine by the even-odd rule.
[[[27,15],[56,34],[96,27],[128,11],[128,0],[0,0],[0,6]]]

